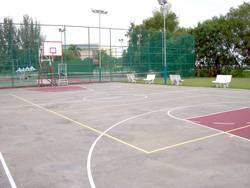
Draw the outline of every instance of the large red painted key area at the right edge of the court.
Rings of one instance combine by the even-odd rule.
[[[250,139],[250,108],[194,117],[188,120]]]

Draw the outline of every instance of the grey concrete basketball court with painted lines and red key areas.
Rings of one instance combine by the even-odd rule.
[[[0,102],[0,187],[250,187],[248,90],[95,83]]]

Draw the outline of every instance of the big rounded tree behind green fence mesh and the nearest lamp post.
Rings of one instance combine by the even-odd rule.
[[[187,36],[188,29],[179,28],[179,21],[174,12],[168,10],[165,19],[167,37],[166,50],[167,54],[172,54],[171,57],[167,55],[167,62],[175,64],[171,65],[171,67],[178,67],[184,62],[181,60],[185,59],[185,54],[179,53],[179,60],[177,61],[177,58],[175,58],[175,56],[177,56],[176,49],[181,46],[186,49],[188,45],[193,48],[193,38],[191,37],[191,43],[186,45],[186,42],[190,41],[190,35]],[[141,25],[132,23],[127,33],[129,47],[127,53],[123,54],[124,64],[132,67],[133,71],[136,72],[154,71],[163,73],[163,27],[164,16],[161,11],[155,11],[153,16],[144,20]],[[178,37],[180,38],[178,39]],[[182,41],[183,44],[180,44],[180,41]],[[193,49],[189,50],[189,47],[187,47],[188,51],[186,51],[186,55],[191,53],[191,56],[193,56]],[[167,66],[169,67],[169,63]]]

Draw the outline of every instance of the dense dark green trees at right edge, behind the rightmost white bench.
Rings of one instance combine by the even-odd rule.
[[[195,36],[196,59],[199,67],[205,65],[214,76],[233,67],[249,64],[250,4],[231,9],[225,16],[199,23],[191,30]]]

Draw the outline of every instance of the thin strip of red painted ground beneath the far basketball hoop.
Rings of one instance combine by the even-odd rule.
[[[60,86],[60,87],[39,87],[29,88],[30,91],[42,91],[42,92],[65,92],[65,91],[79,91],[86,90],[86,88],[80,86]]]

